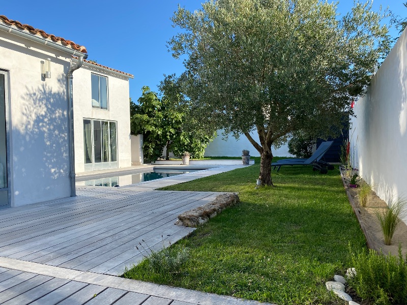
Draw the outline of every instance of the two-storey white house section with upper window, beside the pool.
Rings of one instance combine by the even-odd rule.
[[[129,78],[133,75],[88,60],[75,72],[77,173],[131,166]]]

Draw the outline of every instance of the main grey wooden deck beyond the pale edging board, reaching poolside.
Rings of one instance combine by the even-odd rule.
[[[194,229],[175,225],[178,215],[218,195],[155,188],[235,168],[213,168],[121,188],[78,187],[77,197],[2,210],[0,256],[121,275],[150,249],[167,247],[190,234]],[[140,242],[147,252],[136,249]]]

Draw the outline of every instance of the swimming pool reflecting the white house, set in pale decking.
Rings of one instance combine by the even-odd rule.
[[[154,171],[114,175],[111,177],[101,177],[95,179],[83,179],[80,181],[77,179],[77,186],[94,186],[94,187],[114,187],[114,186],[128,186],[137,184],[144,181],[150,181],[155,179],[161,179],[166,177],[172,177],[181,174],[187,174],[195,172],[201,169],[154,169]],[[78,181],[79,180],[79,181]]]

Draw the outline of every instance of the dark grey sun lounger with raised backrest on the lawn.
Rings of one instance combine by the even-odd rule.
[[[332,143],[333,141],[322,142],[308,159],[281,159],[272,163],[271,166],[273,166],[273,169],[277,167],[277,171],[279,171],[283,165],[311,165],[316,170],[321,171],[321,169],[323,169],[321,173],[327,173],[328,170],[326,167],[329,166],[329,164],[321,161],[321,158],[324,157]]]

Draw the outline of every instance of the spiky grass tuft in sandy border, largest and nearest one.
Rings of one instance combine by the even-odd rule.
[[[375,210],[374,215],[379,220],[380,227],[382,228],[385,245],[391,245],[394,232],[400,224],[400,218],[405,214],[404,207],[407,201],[398,198],[397,200],[390,199],[389,208],[382,210]]]

